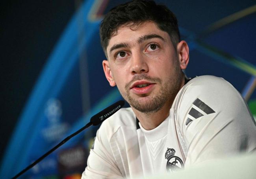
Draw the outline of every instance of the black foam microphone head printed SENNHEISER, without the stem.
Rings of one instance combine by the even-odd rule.
[[[110,116],[112,116],[115,112],[117,112],[119,109],[121,109],[124,106],[124,101],[120,100],[116,103],[112,104],[111,106],[107,107],[106,109],[103,109],[99,113],[95,114],[91,117],[90,122],[93,125],[98,125]]]

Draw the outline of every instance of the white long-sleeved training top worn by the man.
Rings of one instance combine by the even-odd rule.
[[[214,113],[209,114],[206,105],[193,104],[197,99]],[[193,110],[203,116],[193,117]],[[192,121],[187,122],[188,118]],[[185,168],[256,151],[256,126],[246,103],[230,83],[214,76],[191,79],[178,92],[168,118],[158,127],[150,131],[140,123],[139,127],[131,108],[121,109],[104,121],[82,179],[133,178],[167,172],[167,148],[175,150],[175,158],[169,162],[179,157]],[[176,164],[182,168],[180,162]]]

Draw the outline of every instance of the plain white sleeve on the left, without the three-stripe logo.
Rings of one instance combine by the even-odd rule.
[[[96,133],[93,149],[87,159],[87,167],[82,173],[82,179],[116,179],[122,174],[116,165],[110,146],[111,135],[108,124],[102,123]]]

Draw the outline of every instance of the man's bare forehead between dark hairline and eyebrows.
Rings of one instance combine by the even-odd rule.
[[[170,40],[170,37],[167,32],[162,31],[158,28],[158,26],[154,22],[144,22],[142,24],[136,24],[134,26],[129,26],[130,24],[126,24],[120,26],[117,29],[117,32],[111,36],[109,39],[109,43],[107,46],[107,52],[109,53],[109,49],[111,46],[119,43],[135,43],[137,39],[139,39],[143,35],[147,34],[159,34],[166,40]]]

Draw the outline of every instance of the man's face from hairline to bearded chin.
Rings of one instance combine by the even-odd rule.
[[[106,51],[106,78],[111,86],[117,85],[132,107],[152,113],[173,102],[182,87],[183,76],[181,55],[167,32],[153,22],[132,29],[121,26],[109,40]]]

